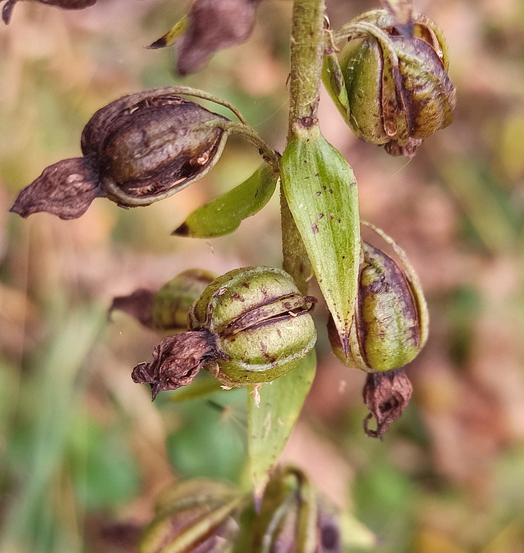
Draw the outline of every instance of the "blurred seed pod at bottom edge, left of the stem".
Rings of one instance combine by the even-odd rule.
[[[138,553],[228,553],[240,527],[236,517],[245,496],[205,478],[178,482],[157,499]]]

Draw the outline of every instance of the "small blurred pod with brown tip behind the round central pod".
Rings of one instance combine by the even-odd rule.
[[[160,290],[140,288],[129,296],[113,299],[109,312],[121,310],[138,319],[142,325],[158,332],[173,334],[187,330],[187,314],[216,274],[203,269],[188,269],[167,281]]]

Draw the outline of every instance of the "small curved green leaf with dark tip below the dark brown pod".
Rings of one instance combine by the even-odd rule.
[[[268,203],[277,182],[279,174],[265,163],[241,185],[195,209],[173,234],[193,238],[229,234]]]

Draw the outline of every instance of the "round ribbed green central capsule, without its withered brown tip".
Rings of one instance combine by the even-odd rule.
[[[189,328],[216,340],[220,373],[241,384],[268,382],[287,373],[317,340],[304,297],[279,269],[238,269],[218,277],[189,311]]]

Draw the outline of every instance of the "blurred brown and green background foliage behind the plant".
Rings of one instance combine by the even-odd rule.
[[[333,28],[377,7],[328,0]],[[7,210],[57,160],[79,155],[91,115],[154,86],[236,104],[275,149],[286,135],[291,5],[261,3],[242,46],[201,73],[147,50],[185,2],[99,0],[79,12],[19,3],[0,28],[0,550],[133,551],[174,478],[245,485],[244,391],[151,404],[131,368],[158,337],[111,299],[191,267],[279,265],[279,207],[213,241],[169,236],[192,209],[247,178],[256,153],[231,140],[203,180],[150,207],[95,200],[76,221]],[[366,438],[364,374],[330,353],[284,457],[355,513],[383,553],[524,551],[524,4],[418,0],[445,30],[453,124],[408,162],[353,138],[327,96],[320,121],[350,162],[362,217],[418,270],[431,334],[408,368],[415,393],[383,442]]]

